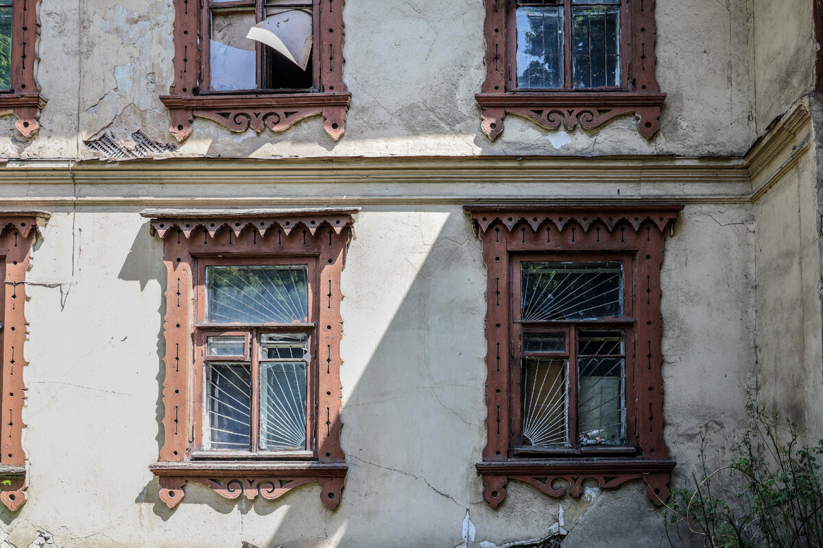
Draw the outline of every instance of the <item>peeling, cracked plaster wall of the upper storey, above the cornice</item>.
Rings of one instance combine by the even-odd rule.
[[[320,118],[260,136],[198,120],[173,155],[742,154],[755,136],[751,1],[658,0],[658,80],[668,99],[663,130],[652,142],[630,117],[566,135],[510,116],[503,136],[491,143],[480,132],[473,97],[485,75],[482,2],[365,0],[344,7],[345,77],[353,99],[339,143],[324,134]],[[768,2],[756,5],[762,3]],[[791,3],[797,4],[791,16],[806,14],[807,0]],[[779,19],[760,12],[764,20]],[[811,7],[807,12],[811,19]],[[173,80],[173,20],[171,0],[42,0],[36,77],[49,103],[30,142],[13,134],[12,117],[0,120],[0,134],[10,136],[0,140],[0,155],[96,158],[82,140],[102,132],[128,141],[139,129],[171,140],[157,96]],[[792,30],[789,25],[785,35]],[[811,46],[797,44],[808,55]],[[793,70],[811,71],[806,57],[800,54]],[[797,95],[794,86],[785,94]]]

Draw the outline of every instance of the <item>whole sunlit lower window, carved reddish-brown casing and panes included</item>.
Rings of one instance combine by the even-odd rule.
[[[165,443],[151,471],[173,508],[186,481],[229,499],[319,483],[334,509],[340,276],[356,210],[146,212],[163,240]]]

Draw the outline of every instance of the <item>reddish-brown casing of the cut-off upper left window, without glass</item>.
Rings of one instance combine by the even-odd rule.
[[[37,60],[36,0],[13,0],[12,2],[12,88],[0,90],[0,116],[14,114],[14,127],[26,139],[40,130],[40,110],[45,101],[35,82],[35,61]]]

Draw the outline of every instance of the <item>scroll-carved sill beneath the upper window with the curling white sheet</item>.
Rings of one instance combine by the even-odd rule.
[[[236,133],[249,127],[260,133],[266,127],[285,131],[304,118],[321,115],[328,136],[340,140],[346,130],[351,93],[161,95],[160,101],[169,109],[171,133],[181,142],[191,135],[194,117],[212,120]]]

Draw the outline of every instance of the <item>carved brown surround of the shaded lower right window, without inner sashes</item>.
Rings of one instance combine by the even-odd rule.
[[[673,230],[682,205],[466,206],[465,210],[481,238],[488,271],[488,440],[482,461],[477,463],[485,487],[483,498],[496,508],[505,499],[509,480],[523,481],[550,496],[568,493],[579,497],[587,479],[597,481],[602,488],[643,479],[649,500],[663,504],[676,463],[668,457],[663,440],[660,267],[665,233]],[[631,272],[625,273],[625,283],[633,288],[632,308],[625,311],[626,316],[632,312],[625,343],[626,405],[631,408],[627,412],[627,447],[528,454],[514,443],[521,394],[513,377],[519,369],[514,363],[517,284],[512,278],[513,262],[518,257],[546,260],[570,256],[587,261],[607,256],[630,258]],[[568,485],[560,485],[560,481]]]

